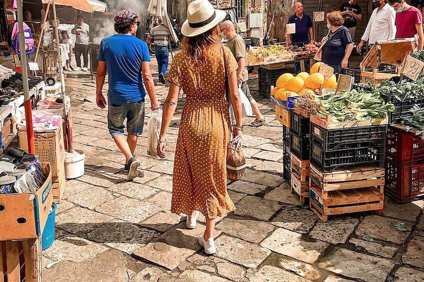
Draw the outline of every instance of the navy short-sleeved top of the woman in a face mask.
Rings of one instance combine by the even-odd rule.
[[[346,45],[352,43],[352,37],[345,26],[340,26],[334,33],[330,32],[330,38],[322,46],[322,62],[338,65],[346,52]]]

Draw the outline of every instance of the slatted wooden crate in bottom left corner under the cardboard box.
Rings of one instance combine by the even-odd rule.
[[[41,282],[41,271],[40,238],[0,241],[1,282]]]

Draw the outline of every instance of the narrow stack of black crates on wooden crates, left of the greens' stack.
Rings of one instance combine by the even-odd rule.
[[[294,110],[290,115],[290,186],[301,204],[309,197],[309,118]]]

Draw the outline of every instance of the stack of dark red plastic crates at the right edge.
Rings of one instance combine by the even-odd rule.
[[[387,128],[385,151],[387,195],[400,203],[424,194],[424,140],[401,125]]]

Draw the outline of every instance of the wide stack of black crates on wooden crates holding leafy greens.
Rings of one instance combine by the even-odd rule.
[[[387,125],[310,118],[309,205],[323,221],[328,215],[383,208]]]

